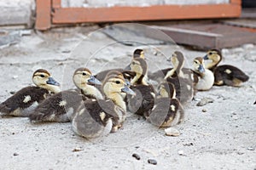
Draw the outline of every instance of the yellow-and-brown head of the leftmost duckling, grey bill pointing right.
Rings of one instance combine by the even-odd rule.
[[[45,88],[53,93],[61,92],[60,83],[56,82],[53,77],[50,77],[48,71],[44,69],[38,69],[33,73],[32,81],[39,88]]]

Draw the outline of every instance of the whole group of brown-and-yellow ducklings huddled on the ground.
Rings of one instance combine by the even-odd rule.
[[[204,59],[212,62],[205,65]],[[193,69],[184,68],[184,56],[175,51],[173,68],[148,74],[143,49],[136,49],[130,65],[93,75],[88,68],[73,73],[76,89],[61,91],[44,69],[35,71],[36,86],[20,89],[0,104],[1,116],[28,116],[31,122],[72,122],[73,131],[84,138],[116,132],[125,122],[126,110],[143,116],[158,127],[183,122],[183,105],[195,91],[213,84],[240,86],[249,77],[232,65],[219,65],[217,49],[194,59]],[[149,82],[157,82],[157,86]]]

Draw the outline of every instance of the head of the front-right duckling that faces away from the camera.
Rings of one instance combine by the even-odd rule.
[[[161,82],[159,86],[160,97],[174,99],[176,97],[176,90],[172,82]]]

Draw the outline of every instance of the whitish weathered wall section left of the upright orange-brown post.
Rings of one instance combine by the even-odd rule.
[[[0,26],[32,26],[35,0],[1,0]]]

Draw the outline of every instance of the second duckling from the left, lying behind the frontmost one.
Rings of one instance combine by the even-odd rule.
[[[79,68],[73,73],[73,83],[78,89],[70,89],[45,99],[30,114],[31,122],[70,122],[73,113],[85,99],[103,99],[93,84],[102,84],[87,68]]]

